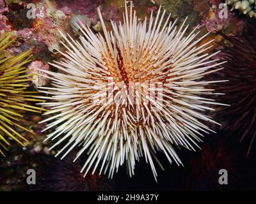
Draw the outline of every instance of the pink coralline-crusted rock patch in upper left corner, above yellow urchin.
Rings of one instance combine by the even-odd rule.
[[[31,26],[15,27],[13,22],[15,19],[12,17],[12,13],[15,13],[15,17],[21,18],[20,22],[28,20],[20,15],[22,11],[13,11],[12,8],[4,7],[4,1],[0,0],[0,29],[1,31],[13,30],[14,36],[19,36],[18,44],[13,45],[8,50],[8,53],[15,54],[24,50],[31,49],[33,54],[38,54],[39,52],[48,49],[50,52],[54,52],[55,49],[60,48],[60,33],[58,29],[64,31],[66,29],[65,22],[68,18],[63,11],[56,10],[56,4],[54,1],[42,0],[33,1],[35,4],[35,18],[29,19],[31,21]],[[26,8],[26,3],[22,1],[23,8]],[[23,12],[24,13],[24,12]],[[7,18],[8,17],[8,18]],[[19,48],[15,48],[15,47]]]

